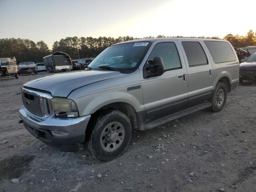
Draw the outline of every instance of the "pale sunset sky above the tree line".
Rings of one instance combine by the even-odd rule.
[[[256,0],[0,0],[0,38],[219,36],[256,32]]]

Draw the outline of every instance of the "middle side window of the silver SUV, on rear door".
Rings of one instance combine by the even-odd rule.
[[[207,65],[207,58],[199,42],[182,42],[190,67]]]

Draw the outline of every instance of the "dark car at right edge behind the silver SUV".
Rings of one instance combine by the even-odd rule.
[[[244,80],[256,80],[256,53],[246,60],[242,59],[239,66],[239,82]]]

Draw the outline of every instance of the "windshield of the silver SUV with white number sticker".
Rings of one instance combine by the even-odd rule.
[[[140,64],[149,46],[149,42],[133,42],[110,46],[99,54],[89,64],[89,67],[92,69],[103,67],[118,70],[133,69]]]

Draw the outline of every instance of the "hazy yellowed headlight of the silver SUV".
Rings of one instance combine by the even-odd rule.
[[[78,108],[72,99],[52,98],[52,110],[59,117],[78,117]]]

